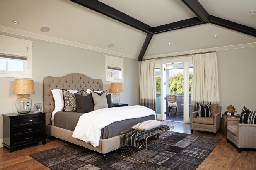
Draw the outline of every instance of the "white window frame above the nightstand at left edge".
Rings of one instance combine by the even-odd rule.
[[[27,47],[27,60],[24,60],[23,62],[24,63],[23,72],[4,71],[4,72],[0,72],[0,77],[31,79],[32,78],[32,43],[33,41],[0,35],[0,42],[9,43],[10,45],[12,44],[23,45]]]

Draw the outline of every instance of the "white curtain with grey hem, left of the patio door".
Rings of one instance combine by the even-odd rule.
[[[154,59],[141,62],[139,104],[156,111]]]

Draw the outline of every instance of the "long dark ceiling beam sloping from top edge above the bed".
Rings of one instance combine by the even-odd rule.
[[[108,17],[111,17],[112,19],[123,22],[124,24],[130,25],[131,27],[134,27],[135,29],[146,32],[147,34],[152,34],[152,32],[148,31],[152,28],[149,25],[133,17],[130,17],[129,15],[126,15],[125,13],[106,5],[105,3],[99,2],[97,0],[70,0],[70,1],[75,2],[91,10],[94,10],[103,15],[106,15]]]

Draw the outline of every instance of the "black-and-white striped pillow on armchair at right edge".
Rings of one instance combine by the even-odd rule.
[[[242,108],[239,123],[256,124],[256,111],[250,111],[246,107]]]

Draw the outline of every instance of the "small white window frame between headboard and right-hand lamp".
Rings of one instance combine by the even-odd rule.
[[[117,66],[121,69],[121,78],[114,79],[113,77],[108,77],[108,61],[116,61],[121,64]],[[112,81],[112,82],[124,82],[124,59],[119,57],[112,57],[112,56],[105,56],[105,81]]]

